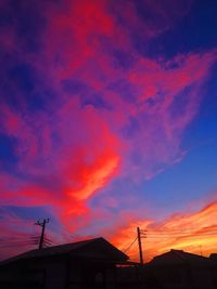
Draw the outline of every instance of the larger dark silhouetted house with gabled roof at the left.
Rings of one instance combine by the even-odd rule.
[[[115,288],[127,260],[104,238],[31,250],[0,262],[0,288]]]

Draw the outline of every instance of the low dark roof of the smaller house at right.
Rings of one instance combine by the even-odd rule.
[[[210,260],[206,257],[171,249],[166,253],[155,257],[149,265],[178,265],[187,263],[191,265],[208,265]]]

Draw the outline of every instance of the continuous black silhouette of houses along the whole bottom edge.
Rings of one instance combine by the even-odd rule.
[[[104,238],[0,262],[0,289],[217,289],[217,258],[170,250],[139,265]]]

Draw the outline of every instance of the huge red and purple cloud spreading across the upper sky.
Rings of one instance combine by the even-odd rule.
[[[15,139],[18,159],[16,176],[1,176],[2,202],[51,205],[74,231],[97,214],[88,201],[113,178],[152,178],[182,158],[183,131],[197,111],[201,86],[216,60],[210,51],[156,61],[135,49],[133,34],[143,41],[156,37],[177,21],[171,4],[173,15],[180,18],[190,1],[144,1],[157,14],[156,24],[142,18],[130,1],[89,2],[46,4],[47,26],[37,39],[37,53],[24,50],[14,27],[2,41],[39,78],[26,100],[38,94],[44,98],[44,107],[31,111],[14,88],[20,111],[7,101],[0,107],[1,132]],[[64,81],[81,88],[67,90]],[[52,101],[46,100],[49,93]],[[180,95],[186,96],[181,105]]]

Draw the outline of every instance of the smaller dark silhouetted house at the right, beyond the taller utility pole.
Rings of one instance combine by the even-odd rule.
[[[149,279],[156,280],[161,288],[215,289],[216,267],[206,257],[170,250],[155,257],[145,270]],[[159,288],[159,287],[158,287]]]

